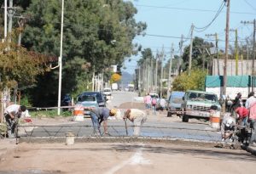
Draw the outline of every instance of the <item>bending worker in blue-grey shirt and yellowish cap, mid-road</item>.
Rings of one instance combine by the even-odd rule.
[[[90,118],[93,125],[93,135],[101,136],[101,123],[103,121],[104,135],[108,136],[108,117],[114,116],[117,113],[117,109],[108,109],[105,107],[97,107],[90,109]]]

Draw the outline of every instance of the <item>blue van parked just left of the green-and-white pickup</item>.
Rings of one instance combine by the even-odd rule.
[[[173,114],[179,115],[177,111],[181,111],[183,104],[183,96],[185,92],[177,92],[174,91],[171,93],[168,101],[167,101],[167,117],[172,116]]]

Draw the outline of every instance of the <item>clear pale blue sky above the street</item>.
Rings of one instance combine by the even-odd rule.
[[[155,55],[164,48],[166,59],[170,59],[171,45],[179,55],[180,37],[189,37],[192,23],[197,28],[202,28],[211,23],[223,0],[126,0],[137,8],[135,19],[146,22],[148,27],[145,36],[137,36],[133,42],[141,44],[144,48],[151,48]],[[214,42],[214,36],[207,34],[218,33],[218,47],[224,49],[226,6],[222,8],[216,20],[207,30],[194,31],[194,36],[200,36]],[[244,25],[241,21],[253,21],[256,18],[256,0],[230,0],[230,29],[237,29],[239,42],[244,42],[247,36],[253,37],[253,24]],[[184,39],[183,48],[190,43]],[[234,45],[235,32],[230,31],[230,45]],[[209,41],[211,42],[211,41]],[[134,74],[137,68],[137,60],[141,54],[125,60],[125,71]],[[129,61],[131,59],[131,61]]]

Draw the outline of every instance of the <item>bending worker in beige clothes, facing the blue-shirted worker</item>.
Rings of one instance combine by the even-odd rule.
[[[124,121],[129,119],[133,122],[133,136],[137,137],[140,135],[141,126],[143,126],[143,123],[147,120],[147,115],[140,109],[127,109],[123,118]]]

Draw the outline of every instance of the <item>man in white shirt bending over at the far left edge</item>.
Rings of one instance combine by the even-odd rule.
[[[4,110],[4,118],[7,125],[7,133],[9,138],[15,138],[15,119],[19,119],[22,112],[26,111],[26,106],[19,104],[11,104]]]

